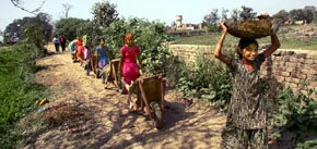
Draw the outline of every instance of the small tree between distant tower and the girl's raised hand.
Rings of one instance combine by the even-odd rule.
[[[207,24],[209,30],[216,30],[219,20],[218,9],[213,9],[209,14],[203,16],[202,23]]]

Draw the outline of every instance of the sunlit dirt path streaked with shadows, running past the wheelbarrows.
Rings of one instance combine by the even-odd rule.
[[[49,46],[54,52],[54,47]],[[46,69],[36,82],[54,90],[50,103],[77,103],[86,109],[89,119],[62,124],[33,138],[24,148],[219,148],[225,116],[193,100],[185,108],[175,90],[166,92],[165,124],[162,131],[140,112],[128,113],[127,96],[104,89],[102,80],[86,76],[68,52],[51,54],[36,62]],[[114,87],[114,86],[111,86]]]

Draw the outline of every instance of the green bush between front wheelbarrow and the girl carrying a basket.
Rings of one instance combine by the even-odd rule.
[[[233,52],[227,53],[233,57]],[[183,64],[177,72],[176,87],[185,96],[207,99],[212,105],[226,110],[231,99],[231,73],[221,62],[199,55],[196,65]]]

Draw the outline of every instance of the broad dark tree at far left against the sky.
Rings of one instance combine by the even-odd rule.
[[[50,40],[52,25],[50,24],[50,15],[46,13],[38,13],[35,17],[23,17],[22,20],[14,20],[11,24],[5,27],[5,35],[8,40],[22,41],[25,39],[23,30],[28,24],[37,23],[42,26],[42,32],[44,34],[44,39],[46,41]],[[7,38],[7,37],[5,37]]]

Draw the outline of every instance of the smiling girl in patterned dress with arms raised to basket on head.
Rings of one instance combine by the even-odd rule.
[[[227,27],[224,23],[220,27],[223,32],[214,49],[214,57],[230,67],[234,79],[221,147],[267,149],[267,111],[260,88],[260,66],[280,47],[280,41],[272,34],[271,47],[258,54],[259,46],[255,39],[240,39],[237,48],[239,59],[235,60],[221,52]]]

